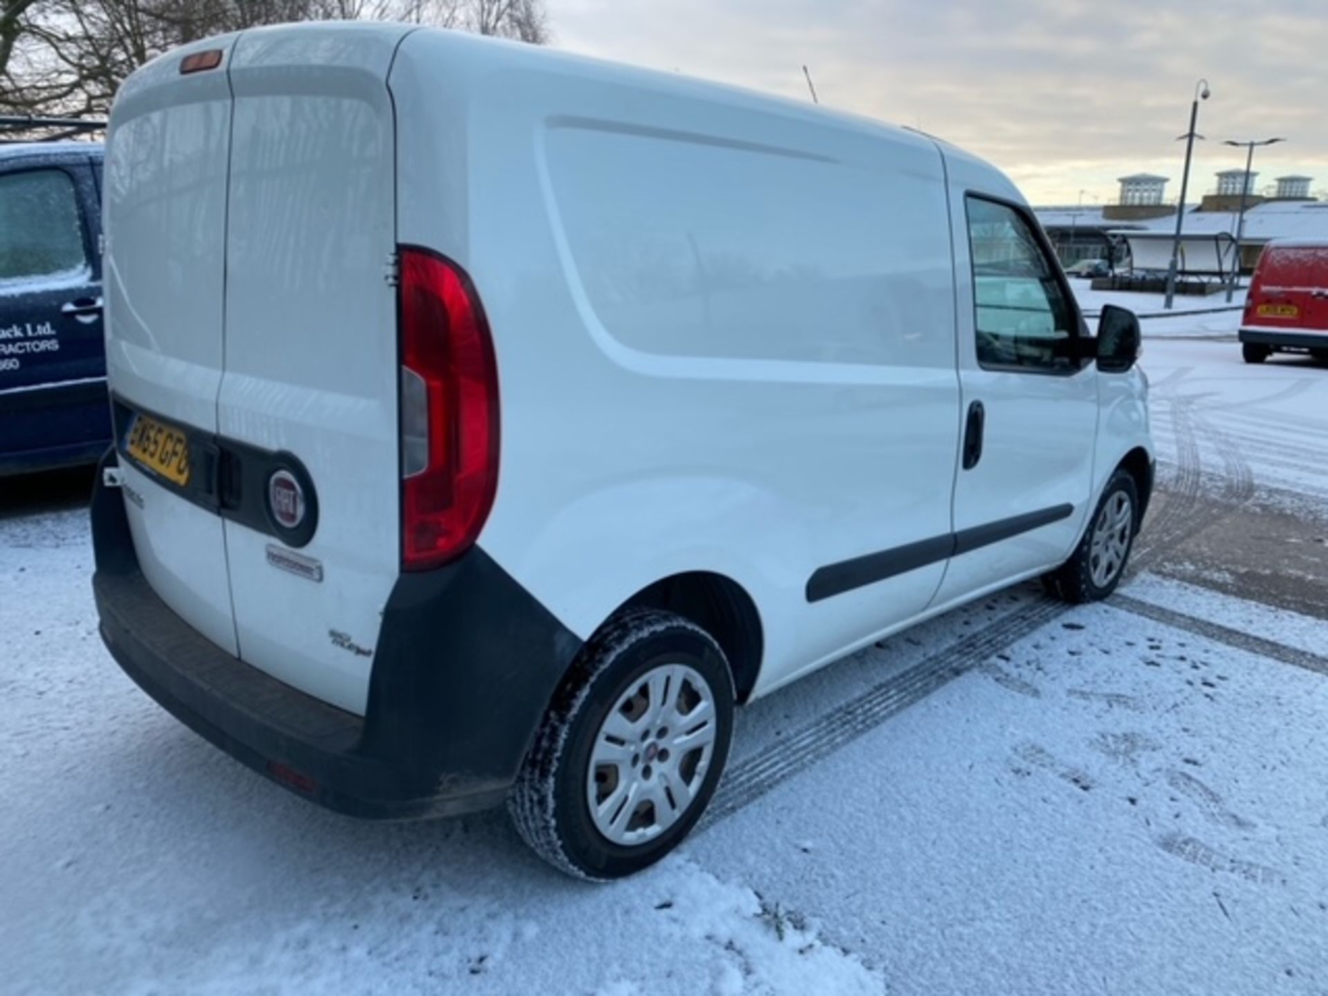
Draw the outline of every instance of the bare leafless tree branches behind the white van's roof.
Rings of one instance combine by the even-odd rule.
[[[175,45],[331,19],[548,41],[544,0],[0,0],[0,113],[101,114],[125,77]]]

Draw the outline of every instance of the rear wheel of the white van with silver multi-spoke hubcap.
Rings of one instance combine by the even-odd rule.
[[[714,794],[733,736],[733,679],[704,629],[635,610],[582,648],[509,810],[554,867],[631,875],[673,850]]]

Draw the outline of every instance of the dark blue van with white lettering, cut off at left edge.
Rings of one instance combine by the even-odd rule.
[[[93,142],[0,145],[0,475],[110,445]]]

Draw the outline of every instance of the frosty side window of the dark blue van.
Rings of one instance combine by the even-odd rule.
[[[0,291],[86,278],[78,198],[64,170],[0,175]]]

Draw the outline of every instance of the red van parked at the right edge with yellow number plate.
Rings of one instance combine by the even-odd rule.
[[[1240,319],[1240,343],[1246,363],[1305,349],[1328,360],[1328,240],[1264,246]]]

